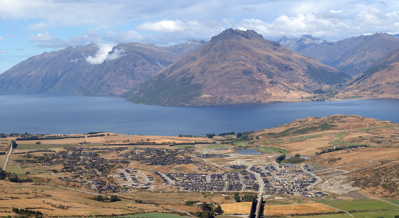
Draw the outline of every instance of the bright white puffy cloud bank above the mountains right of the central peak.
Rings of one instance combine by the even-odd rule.
[[[330,10],[324,13],[298,14],[296,16],[282,15],[272,22],[260,19],[243,19],[239,29],[253,29],[264,37],[281,37],[288,35],[297,37],[310,34],[317,37],[357,36],[365,33],[392,33],[399,25],[399,12],[384,14],[377,8],[360,11],[354,19],[345,16],[340,10]],[[395,34],[395,33],[394,33]],[[338,38],[338,39],[343,39]]]

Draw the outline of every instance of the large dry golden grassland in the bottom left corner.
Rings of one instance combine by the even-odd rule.
[[[32,208],[32,210],[38,210],[47,216],[90,216],[164,211],[162,208],[150,204],[134,204],[126,201],[105,203],[89,200],[87,198],[94,197],[94,195],[51,185],[34,184],[0,181],[0,202],[5,208],[4,210],[9,211],[13,207]]]

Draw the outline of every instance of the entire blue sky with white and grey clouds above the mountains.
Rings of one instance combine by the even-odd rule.
[[[0,72],[68,46],[96,43],[107,53],[119,43],[209,41],[227,28],[269,40],[397,34],[399,1],[0,0]]]

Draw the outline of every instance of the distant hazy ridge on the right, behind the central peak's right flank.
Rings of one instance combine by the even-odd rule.
[[[399,47],[399,39],[387,33],[359,35],[333,43],[320,43],[300,51],[352,76],[363,73]]]

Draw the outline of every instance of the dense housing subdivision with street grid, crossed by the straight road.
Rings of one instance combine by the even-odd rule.
[[[233,166],[237,167],[237,165]],[[255,191],[263,187],[265,194],[286,194],[297,197],[323,197],[328,194],[310,190],[321,179],[306,165],[250,165],[248,170],[225,173],[160,173],[134,169],[120,169],[114,178],[122,179],[126,187],[151,189],[155,187],[150,173],[162,179],[162,185],[179,187],[180,191]],[[261,184],[261,185],[260,185]]]

